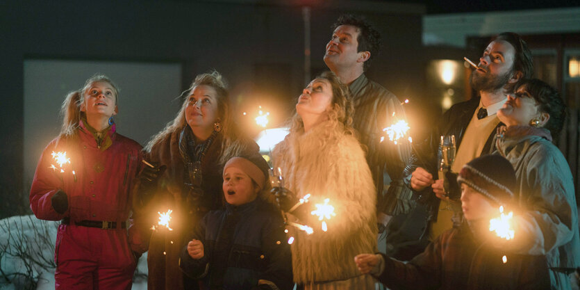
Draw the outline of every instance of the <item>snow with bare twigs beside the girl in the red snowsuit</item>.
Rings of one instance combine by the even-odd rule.
[[[0,220],[0,290],[54,289],[54,244],[60,222],[35,216]],[[137,266],[133,289],[147,289],[147,253]]]

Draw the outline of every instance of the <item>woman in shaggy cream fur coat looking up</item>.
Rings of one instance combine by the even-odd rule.
[[[376,193],[365,154],[354,136],[354,111],[348,88],[325,72],[311,81],[296,104],[290,134],[274,149],[274,168],[281,168],[285,187],[310,201],[288,214],[290,222],[313,227],[307,234],[295,227],[292,269],[305,289],[374,289],[374,279],[361,275],[354,263],[360,252],[376,252]],[[310,214],[329,198],[335,216],[321,221]],[[294,213],[295,211],[293,211]]]

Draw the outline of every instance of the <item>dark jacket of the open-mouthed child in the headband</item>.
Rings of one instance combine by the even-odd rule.
[[[185,245],[179,266],[201,289],[292,289],[290,246],[271,204],[226,204],[206,214],[191,238],[204,243],[204,257],[192,259]]]

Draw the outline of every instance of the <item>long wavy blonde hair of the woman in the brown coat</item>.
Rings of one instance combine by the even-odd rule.
[[[228,148],[234,140],[240,138],[239,130],[235,122],[233,122],[231,102],[226,81],[222,77],[222,74],[219,74],[217,71],[198,74],[190,88],[181,93],[180,97],[183,97],[186,92],[189,94],[197,86],[210,86],[217,92],[217,122],[222,123],[221,134],[224,136],[222,139],[221,155],[221,153],[224,152],[224,150]],[[174,120],[168,122],[163,130],[149,140],[149,143],[145,146],[147,152],[151,152],[154,145],[160,143],[168,135],[173,134],[176,131],[181,131],[183,127],[188,125],[187,120],[185,120],[185,109],[188,107],[188,104],[189,98],[186,96],[183,100],[183,104],[181,104],[181,109],[175,116]]]

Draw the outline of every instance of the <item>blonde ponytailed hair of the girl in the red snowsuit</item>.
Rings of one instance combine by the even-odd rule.
[[[106,82],[115,93],[115,106],[119,101],[119,89],[111,81],[108,76],[104,74],[94,74],[90,79],[85,81],[85,86],[79,90],[74,90],[67,94],[63,106],[60,108],[60,114],[63,115],[63,127],[60,129],[60,138],[69,138],[76,134],[78,130],[78,122],[81,121],[81,106],[85,102],[85,95],[93,83]]]

